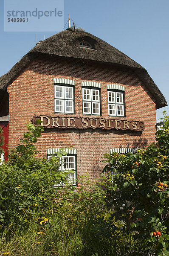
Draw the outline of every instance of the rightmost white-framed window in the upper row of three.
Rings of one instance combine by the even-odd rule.
[[[107,90],[109,116],[124,116],[123,92]]]

